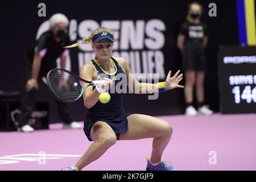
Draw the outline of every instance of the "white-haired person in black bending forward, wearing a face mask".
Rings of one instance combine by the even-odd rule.
[[[44,32],[25,54],[24,60],[24,83],[22,89],[21,103],[18,117],[18,130],[23,132],[32,132],[34,129],[29,125],[31,111],[34,109],[36,94],[39,90],[39,83],[42,77],[57,67],[56,59],[60,57],[60,67],[65,68],[69,52],[64,46],[70,44],[67,33],[69,20],[64,14],[54,14],[49,19],[49,30]],[[81,125],[73,121],[69,114],[68,105],[57,100],[57,110],[60,118],[64,121],[64,128],[80,129]]]

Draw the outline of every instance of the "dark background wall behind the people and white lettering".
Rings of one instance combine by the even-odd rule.
[[[38,3],[46,4],[46,17],[38,16]],[[150,20],[160,19],[166,24],[164,68],[166,72],[181,69],[181,56],[176,48],[180,24],[187,15],[191,1],[4,1],[1,2],[1,60],[0,90],[20,89],[23,54],[36,37],[40,24],[52,14],[63,13],[69,19],[81,22],[85,19],[101,20]],[[205,101],[214,111],[219,111],[217,53],[220,45],[238,45],[236,1],[199,1],[205,12],[202,21],[209,28],[207,52],[207,75],[205,79]],[[208,16],[209,3],[216,3],[217,17]],[[71,53],[72,71],[79,72],[76,50]],[[183,83],[184,84],[184,81]],[[39,101],[50,103],[50,122],[60,121],[56,106],[52,103],[46,85],[41,87]],[[82,100],[71,104],[72,113],[81,121],[86,111]],[[127,111],[151,115],[184,113],[183,90],[175,89],[161,93],[158,100],[147,100],[147,95],[126,94],[124,107]]]

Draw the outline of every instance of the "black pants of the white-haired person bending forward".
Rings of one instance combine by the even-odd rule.
[[[39,90],[36,90],[35,88],[31,89],[29,92],[26,91],[27,80],[31,78],[31,64],[32,64],[32,61],[28,60],[27,57],[25,57],[24,67],[23,67],[23,74],[24,74],[23,83],[22,83],[22,90],[20,95],[21,106],[19,108],[22,114],[19,118],[19,127],[22,127],[28,124],[28,120],[30,118],[31,112],[35,107],[36,96],[39,91]],[[39,77],[38,77],[39,88],[40,88],[40,84],[42,84],[42,81],[41,81],[42,77],[46,75],[47,75],[47,72],[40,71]],[[68,104],[60,102],[56,99],[55,99],[55,102],[57,105],[57,110],[60,115],[60,118],[64,121],[64,123],[67,123],[67,124],[71,123],[73,121],[73,118],[69,114]]]

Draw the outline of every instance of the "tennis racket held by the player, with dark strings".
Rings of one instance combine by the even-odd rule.
[[[53,96],[65,103],[71,103],[79,100],[89,86],[102,85],[105,80],[87,81],[74,73],[61,68],[52,69],[47,73],[47,85]],[[84,88],[80,81],[89,83]]]

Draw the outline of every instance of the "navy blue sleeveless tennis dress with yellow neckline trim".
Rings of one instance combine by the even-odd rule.
[[[123,71],[121,65],[119,65],[117,60],[115,60],[113,57],[111,57],[111,60],[115,67],[114,73],[105,72],[104,69],[97,64],[96,60],[91,60],[91,63],[98,73],[98,77],[104,74],[104,77],[112,79],[113,77],[116,78],[117,75],[121,73],[125,76],[126,79],[125,71]],[[114,80],[113,86],[122,81],[122,78]],[[109,93],[111,99],[108,103],[102,104],[100,101],[98,101],[94,106],[86,111],[84,119],[84,133],[90,141],[92,141],[92,138],[90,138],[90,129],[92,129],[93,124],[97,121],[108,123],[108,125],[112,127],[115,135],[117,136],[117,140],[119,140],[120,134],[124,134],[127,131],[127,117],[133,113],[126,113],[125,110],[123,110],[123,93],[117,93],[116,90],[114,93]]]

